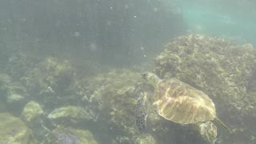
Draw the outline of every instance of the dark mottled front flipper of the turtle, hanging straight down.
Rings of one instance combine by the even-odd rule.
[[[148,115],[145,92],[139,92],[138,94],[138,101],[136,104],[135,115],[136,115],[136,125],[138,126],[138,130],[141,133],[144,133],[146,131],[146,118]]]

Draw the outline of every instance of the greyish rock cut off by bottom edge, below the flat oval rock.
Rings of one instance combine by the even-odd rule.
[[[65,128],[58,126],[46,136],[42,144],[98,144],[94,135],[89,130],[77,130],[74,128]]]

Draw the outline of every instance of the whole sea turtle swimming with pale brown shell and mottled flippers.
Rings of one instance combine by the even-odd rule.
[[[207,141],[211,141],[210,143],[213,143],[213,137],[217,136],[217,128],[210,121],[216,120],[230,131],[216,116],[214,102],[201,90],[176,78],[160,79],[153,73],[142,74],[142,78],[154,86],[153,106],[162,118],[179,124],[195,124],[202,137],[208,138]],[[141,92],[136,106],[136,124],[140,131],[146,129],[147,110],[144,106],[146,106],[146,93]]]

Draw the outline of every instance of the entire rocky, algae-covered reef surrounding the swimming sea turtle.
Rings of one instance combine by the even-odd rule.
[[[139,91],[146,90],[149,97],[153,94],[153,87],[141,78],[142,72],[149,69],[147,65],[129,69],[104,67],[92,74],[88,67],[74,66],[69,60],[48,57],[27,61],[30,58],[26,57],[14,57],[10,62],[14,65],[6,65],[6,71],[0,74],[4,102],[0,110],[20,116],[20,126],[29,126],[26,130],[32,131],[33,138],[42,144],[205,144],[215,140],[216,133],[207,131],[216,130],[212,123],[181,126],[160,117],[151,105],[145,133],[140,133],[135,118]],[[17,58],[21,61],[16,62]],[[233,130],[228,134],[216,125],[216,142],[255,143],[255,59],[256,52],[250,44],[240,46],[216,37],[190,34],[166,44],[155,58],[154,72],[160,78],[178,78],[213,99],[218,118]],[[20,62],[26,69],[16,66]],[[14,132],[10,130],[8,134]],[[30,132],[27,134],[31,136]]]

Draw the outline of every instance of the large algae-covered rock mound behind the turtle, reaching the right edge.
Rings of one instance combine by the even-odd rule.
[[[190,34],[174,38],[164,49],[155,58],[154,72],[160,78],[178,78],[213,99],[218,117],[234,130],[224,143],[241,130],[248,134],[242,142],[250,143],[250,137],[255,137],[256,119],[254,47]]]

